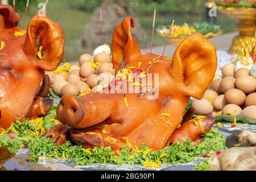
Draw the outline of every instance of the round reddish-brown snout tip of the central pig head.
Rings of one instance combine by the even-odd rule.
[[[65,95],[57,107],[57,117],[61,123],[76,128],[84,118],[84,111],[75,97]]]

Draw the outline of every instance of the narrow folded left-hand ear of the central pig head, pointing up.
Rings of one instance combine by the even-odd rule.
[[[120,61],[123,60],[126,64],[133,60],[133,56],[141,54],[141,49],[133,35],[131,35],[131,27],[134,27],[134,20],[131,17],[127,17],[115,28],[112,40],[113,67],[115,71],[120,69]]]

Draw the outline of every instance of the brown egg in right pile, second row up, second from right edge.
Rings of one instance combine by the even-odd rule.
[[[229,89],[225,93],[225,100],[227,104],[236,104],[238,106],[245,102],[246,95],[239,89]]]

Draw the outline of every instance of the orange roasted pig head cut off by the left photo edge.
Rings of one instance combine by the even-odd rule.
[[[0,127],[30,114],[44,71],[53,71],[64,52],[61,26],[36,15],[27,32],[17,27],[13,7],[0,6]]]

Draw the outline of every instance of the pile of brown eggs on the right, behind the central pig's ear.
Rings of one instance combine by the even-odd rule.
[[[201,115],[243,114],[256,120],[255,71],[256,64],[251,57],[243,57],[237,64],[224,65],[222,76],[215,75],[203,99],[194,99],[192,106]]]

